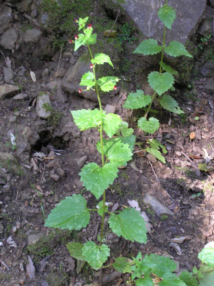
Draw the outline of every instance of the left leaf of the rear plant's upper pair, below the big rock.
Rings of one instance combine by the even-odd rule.
[[[143,55],[156,55],[160,53],[162,47],[158,46],[158,42],[154,39],[142,41],[140,45],[133,51],[133,53],[140,53]]]

